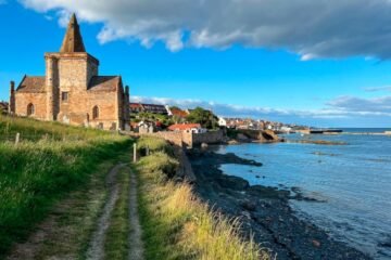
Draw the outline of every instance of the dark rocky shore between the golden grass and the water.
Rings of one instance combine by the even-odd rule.
[[[297,218],[289,199],[307,199],[300,188],[278,190],[253,185],[248,181],[224,174],[222,164],[240,164],[261,167],[235,154],[216,154],[212,151],[188,152],[199,197],[229,217],[239,217],[244,236],[252,235],[256,243],[270,250],[276,259],[370,259],[349,245],[333,240],[325,231]],[[261,178],[261,177],[260,177]]]

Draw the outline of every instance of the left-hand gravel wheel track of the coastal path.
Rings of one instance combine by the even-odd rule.
[[[110,224],[110,219],[115,206],[116,200],[118,199],[119,186],[116,180],[118,170],[124,167],[124,164],[116,165],[110,172],[106,178],[106,185],[109,186],[109,197],[103,208],[103,213],[98,220],[98,227],[92,235],[89,248],[87,250],[88,260],[100,260],[104,259],[104,240],[105,233]]]

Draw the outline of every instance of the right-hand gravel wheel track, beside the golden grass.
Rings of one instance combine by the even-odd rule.
[[[143,260],[142,231],[138,212],[138,183],[135,172],[130,172],[129,188],[129,260]]]

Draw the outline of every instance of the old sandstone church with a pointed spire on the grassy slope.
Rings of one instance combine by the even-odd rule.
[[[46,76],[11,81],[10,113],[101,129],[128,129],[129,88],[121,76],[99,76],[72,15],[60,52],[45,53]]]

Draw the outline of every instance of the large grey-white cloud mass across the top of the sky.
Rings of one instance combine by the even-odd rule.
[[[1,1],[1,0],[0,0]],[[232,44],[286,49],[302,60],[391,56],[390,0],[20,0],[38,12],[103,23],[101,43],[162,41],[171,51]]]

